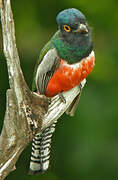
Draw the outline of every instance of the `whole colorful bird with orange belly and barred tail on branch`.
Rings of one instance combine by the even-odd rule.
[[[93,70],[95,54],[91,29],[84,14],[75,8],[62,10],[56,17],[57,32],[41,50],[35,70],[32,91],[46,97],[54,97],[80,86]],[[67,109],[74,115],[80,94]],[[55,131],[55,121],[40,133],[32,142],[29,174],[40,174],[49,167],[51,137]]]

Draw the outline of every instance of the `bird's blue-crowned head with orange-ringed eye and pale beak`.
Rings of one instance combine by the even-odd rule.
[[[56,20],[62,35],[67,41],[89,35],[90,30],[85,16],[75,8],[61,11]]]

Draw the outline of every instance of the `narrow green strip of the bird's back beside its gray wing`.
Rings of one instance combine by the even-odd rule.
[[[36,71],[38,68],[38,65],[41,63],[41,61],[43,60],[43,57],[45,56],[45,54],[50,50],[54,48],[54,45],[52,44],[51,41],[49,41],[41,50],[38,61],[35,65],[35,69],[34,69],[34,74],[33,74],[33,82],[32,82],[32,91],[36,91],[36,83],[35,83],[35,77],[36,77]]]

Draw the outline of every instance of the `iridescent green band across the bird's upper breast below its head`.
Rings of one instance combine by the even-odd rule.
[[[59,30],[54,34],[51,41],[57,49],[59,57],[67,60],[69,64],[72,64],[78,62],[84,57],[87,57],[93,49],[93,44],[91,43],[91,40],[88,40],[88,44],[83,44],[83,42],[80,41],[81,39],[78,39],[72,40],[71,43],[67,43],[62,37]]]

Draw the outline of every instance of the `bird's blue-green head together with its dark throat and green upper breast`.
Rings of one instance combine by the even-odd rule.
[[[53,42],[59,56],[70,61],[88,56],[93,43],[85,16],[79,10],[71,8],[61,11],[56,20],[59,38]]]

